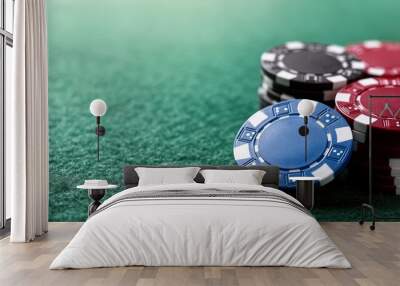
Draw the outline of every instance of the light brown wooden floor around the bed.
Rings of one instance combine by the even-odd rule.
[[[352,269],[289,267],[123,267],[48,270],[80,223],[51,223],[27,244],[0,241],[0,285],[400,285],[400,223],[322,223]]]

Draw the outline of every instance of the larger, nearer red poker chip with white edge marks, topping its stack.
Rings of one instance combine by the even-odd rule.
[[[397,133],[400,97],[393,96],[400,96],[400,78],[365,78],[342,88],[336,94],[335,106],[356,131],[367,132],[371,121],[373,129]]]

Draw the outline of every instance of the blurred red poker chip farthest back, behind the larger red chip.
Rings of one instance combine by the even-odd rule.
[[[373,40],[346,49],[365,63],[369,75],[400,76],[400,43]]]

